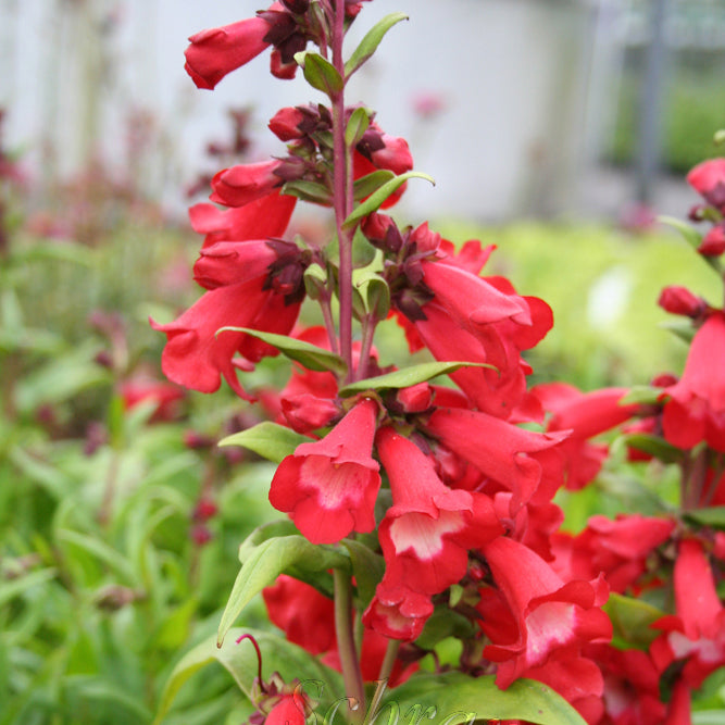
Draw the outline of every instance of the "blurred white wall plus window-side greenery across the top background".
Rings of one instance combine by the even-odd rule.
[[[249,110],[262,158],[279,148],[266,121],[310,100],[301,79],[271,83],[265,55],[213,92],[184,73],[189,35],[255,9],[2,0],[5,142],[26,149],[40,187],[100,164],[182,210],[179,190],[205,146],[229,133],[229,109]],[[436,178],[435,191],[409,195],[411,212],[611,217],[637,201],[659,203],[673,188],[668,175],[715,152],[712,135],[725,123],[723,0],[376,0],[358,37],[396,10],[410,23],[389,34],[349,99],[376,109]]]

